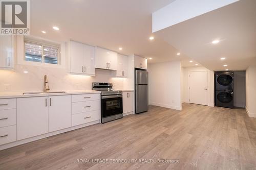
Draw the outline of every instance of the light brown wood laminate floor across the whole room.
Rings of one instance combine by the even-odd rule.
[[[143,159],[180,163],[139,162]],[[150,106],[146,113],[0,151],[0,169],[256,169],[256,118],[244,109]]]

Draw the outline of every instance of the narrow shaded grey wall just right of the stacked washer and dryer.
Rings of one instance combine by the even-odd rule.
[[[245,71],[234,71],[234,106],[245,108]]]

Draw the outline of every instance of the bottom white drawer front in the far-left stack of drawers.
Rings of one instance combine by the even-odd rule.
[[[0,128],[0,145],[16,141],[16,125]]]

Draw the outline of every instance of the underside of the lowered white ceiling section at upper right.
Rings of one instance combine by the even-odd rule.
[[[243,70],[256,65],[256,1],[239,1],[156,34],[208,69]],[[215,39],[220,43],[212,44]]]

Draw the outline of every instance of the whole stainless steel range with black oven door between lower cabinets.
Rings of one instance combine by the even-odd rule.
[[[123,92],[113,90],[112,83],[93,82],[93,90],[101,91],[101,123],[123,117]]]

